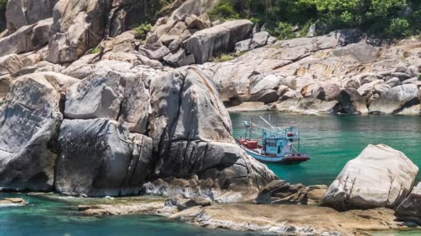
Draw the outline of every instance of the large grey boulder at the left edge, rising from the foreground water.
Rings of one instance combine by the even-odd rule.
[[[0,188],[53,189],[59,100],[44,77],[28,75],[12,83],[0,110]]]

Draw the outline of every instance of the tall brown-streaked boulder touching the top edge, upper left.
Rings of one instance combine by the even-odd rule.
[[[76,61],[95,48],[105,35],[111,1],[60,0],[53,10],[53,36],[48,43],[48,61]]]

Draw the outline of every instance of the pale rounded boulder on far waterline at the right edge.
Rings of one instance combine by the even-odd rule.
[[[420,104],[420,90],[415,84],[396,86],[370,104],[370,113],[395,114]]]

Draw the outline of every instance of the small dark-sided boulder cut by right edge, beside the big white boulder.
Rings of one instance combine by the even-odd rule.
[[[421,183],[418,183],[418,186],[415,186],[402,204],[396,208],[395,215],[400,220],[421,225]]]

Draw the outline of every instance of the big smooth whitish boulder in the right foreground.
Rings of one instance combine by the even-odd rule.
[[[418,167],[400,151],[369,145],[346,164],[323,197],[337,210],[396,208],[411,192]]]

